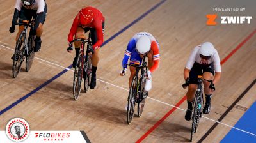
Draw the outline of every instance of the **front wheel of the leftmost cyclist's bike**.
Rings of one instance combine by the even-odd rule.
[[[25,38],[26,32],[22,31],[16,43],[15,52],[13,54],[13,63],[12,63],[12,75],[13,77],[17,77],[20,72],[22,62],[24,61],[24,53],[25,53]]]

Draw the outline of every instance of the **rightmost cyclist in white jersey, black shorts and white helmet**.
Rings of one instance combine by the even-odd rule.
[[[212,80],[212,83],[203,81],[205,93],[203,113],[209,114],[211,110],[211,96],[215,89],[214,84],[220,80],[221,75],[220,57],[210,42],[202,43],[202,45],[194,48],[184,69],[184,79],[186,80],[186,86],[188,86],[186,94],[188,109],[185,119],[188,121],[191,119],[193,100],[197,89],[196,81],[189,80],[188,83],[188,78],[197,79],[198,75],[202,75],[203,79]]]

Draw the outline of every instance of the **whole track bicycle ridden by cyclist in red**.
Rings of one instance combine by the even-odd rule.
[[[90,86],[90,80],[92,77],[92,56],[93,53],[92,49],[92,41],[90,40],[90,33],[89,38],[79,38],[74,39],[70,41],[70,44],[72,44],[75,41],[81,41],[81,47],[80,47],[80,54],[76,59],[76,66],[74,70],[74,80],[73,80],[73,96],[74,100],[77,100],[79,98],[79,95],[81,93],[81,84],[84,79],[84,91],[85,93],[88,93],[89,86]],[[87,44],[86,54],[84,55],[84,46]]]

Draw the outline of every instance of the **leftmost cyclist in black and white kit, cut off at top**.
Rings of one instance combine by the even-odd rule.
[[[35,52],[38,52],[41,48],[41,36],[43,33],[43,24],[47,13],[47,5],[45,0],[16,0],[15,10],[12,19],[12,26],[10,27],[10,33],[14,33],[15,24],[19,18],[19,22],[22,20],[31,20],[32,16],[35,17],[35,26],[33,27],[32,34],[36,35],[35,39]],[[19,32],[16,36],[16,41],[19,38],[21,31],[24,30],[24,26],[19,26]]]

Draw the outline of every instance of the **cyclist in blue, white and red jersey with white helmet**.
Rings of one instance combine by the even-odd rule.
[[[130,64],[140,65],[142,57],[147,55],[148,57],[148,77],[146,80],[145,90],[149,91],[152,87],[151,73],[154,72],[160,63],[159,45],[156,38],[152,34],[147,32],[140,32],[135,34],[127,45],[125,50],[124,59],[122,61],[122,67],[125,69],[124,73],[121,71],[120,75],[125,75],[128,59],[130,58]],[[136,68],[130,66],[130,78],[129,87],[131,86],[132,78],[136,73]]]

